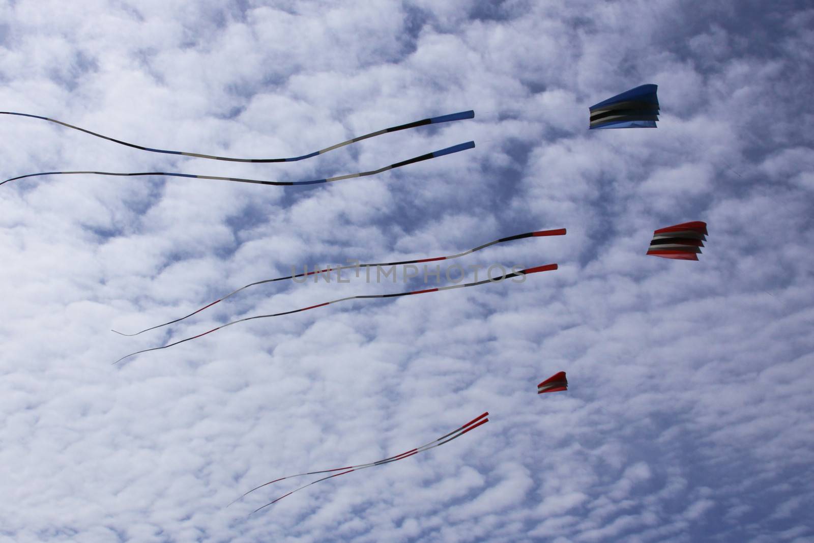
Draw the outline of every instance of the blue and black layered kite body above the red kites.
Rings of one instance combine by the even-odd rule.
[[[656,128],[659,85],[639,85],[590,107],[589,129]]]

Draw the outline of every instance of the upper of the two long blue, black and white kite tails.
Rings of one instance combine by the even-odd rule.
[[[475,118],[475,112],[470,110],[468,112],[458,112],[458,113],[450,113],[449,115],[441,115],[437,117],[429,117],[427,119],[422,120],[414,120],[411,123],[407,123],[405,125],[398,125],[398,126],[391,126],[390,128],[377,130],[375,132],[371,132],[370,134],[365,134],[364,136],[357,136],[356,138],[350,138],[347,141],[336,143],[335,145],[331,145],[330,147],[326,147],[325,149],[320,149],[319,151],[313,151],[312,153],[308,153],[306,155],[300,156],[291,156],[288,158],[277,158],[277,159],[237,159],[232,158],[230,156],[216,156],[216,155],[201,155],[199,153],[190,153],[187,151],[167,151],[166,149],[153,149],[152,147],[142,147],[141,145],[136,145],[135,143],[128,143],[123,142],[120,139],[110,138],[108,136],[104,136],[103,134],[97,134],[95,132],[91,132],[90,130],[80,128],[74,125],[68,125],[68,123],[63,123],[61,120],[50,119],[49,117],[43,117],[39,115],[31,115],[29,113],[15,113],[15,112],[0,112],[0,115],[17,115],[17,116],[24,116],[24,117],[31,117],[33,119],[42,119],[47,120],[52,123],[56,123],[57,125],[63,125],[70,129],[79,130],[84,132],[85,134],[90,134],[91,136],[96,136],[97,138],[107,139],[107,141],[119,143],[120,145],[126,145],[127,147],[133,147],[134,149],[140,149],[141,151],[151,151],[153,153],[164,153],[167,155],[183,155],[183,156],[195,156],[199,159],[210,159],[210,160],[227,160],[229,162],[256,162],[256,163],[269,163],[269,162],[296,162],[297,160],[305,160],[312,158],[313,156],[317,155],[324,155],[328,151],[333,151],[335,149],[339,149],[339,147],[344,147],[346,145],[350,145],[351,143],[361,142],[363,139],[367,138],[374,138],[375,136],[380,136],[382,134],[388,134],[390,132],[398,132],[399,130],[411,129],[416,128],[418,126],[426,126],[426,125],[437,125],[439,123],[446,123],[453,120],[465,120],[465,119],[473,119]],[[67,173],[67,172],[63,172]],[[79,172],[77,172],[79,173]],[[83,172],[83,173],[96,173],[96,172]],[[152,174],[157,175],[157,174]],[[192,176],[195,177],[195,176]],[[220,178],[220,177],[218,177]]]

